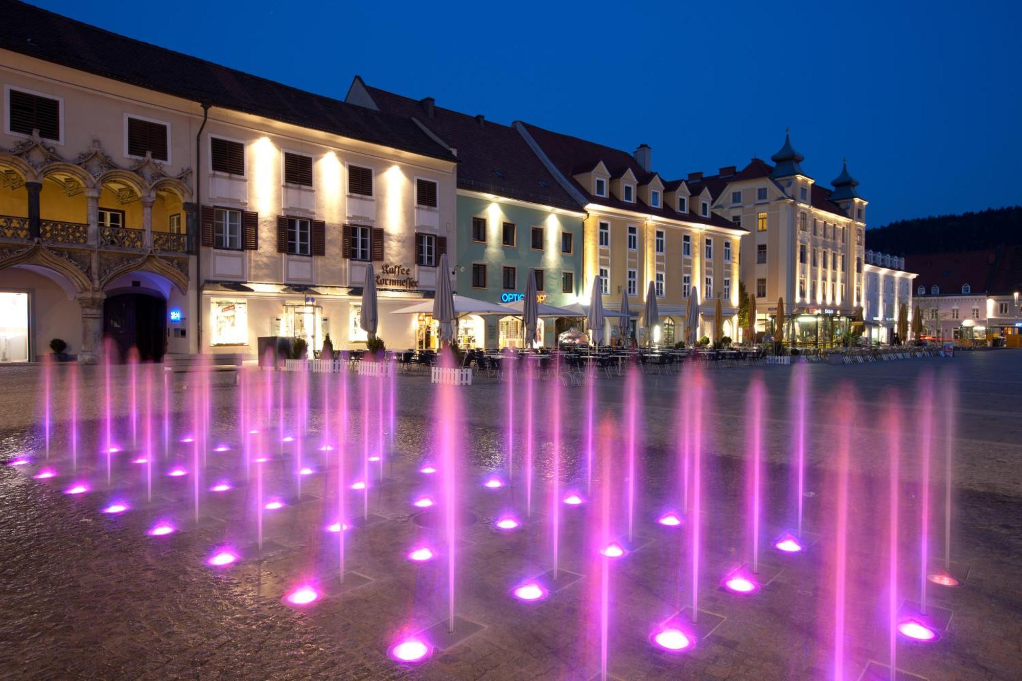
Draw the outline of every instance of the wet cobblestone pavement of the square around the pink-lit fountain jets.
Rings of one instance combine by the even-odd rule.
[[[696,647],[680,656],[656,653],[647,634],[653,623],[670,616],[689,597],[685,576],[687,552],[683,533],[664,532],[651,521],[670,496],[678,434],[677,403],[686,388],[677,376],[641,378],[643,399],[642,490],[637,516],[636,550],[615,568],[610,589],[615,606],[610,624],[608,666],[620,679],[816,679],[830,678],[830,588],[828,560],[833,544],[826,528],[831,497],[828,480],[835,464],[832,426],[836,396],[849,395],[854,407],[855,443],[851,467],[852,518],[871,526],[877,510],[871,494],[883,485],[885,468],[883,400],[903,396],[909,413],[919,402],[918,381],[939,402],[953,392],[955,498],[954,558],[956,571],[968,569],[958,589],[931,587],[931,603],[954,615],[943,638],[932,646],[902,644],[898,667],[930,679],[1017,679],[1022,677],[1022,352],[977,352],[953,360],[905,360],[870,365],[805,367],[811,385],[807,472],[807,527],[819,531],[819,544],[804,556],[763,557],[761,575],[774,579],[753,598],[736,598],[714,588],[725,566],[745,557],[740,509],[743,507],[746,394],[750,379],[763,380],[768,395],[765,453],[770,466],[766,524],[785,513],[790,470],[788,395],[791,367],[728,369],[708,374],[707,536],[700,607],[723,619]],[[378,523],[346,533],[346,586],[336,581],[337,535],[323,526],[336,519],[337,468],[329,457],[311,453],[317,467],[297,496],[283,464],[268,468],[266,484],[290,495],[287,507],[267,516],[262,558],[254,541],[254,486],[245,484],[234,458],[215,459],[206,481],[232,475],[235,490],[223,500],[203,497],[199,521],[191,515],[189,483],[164,475],[154,482],[154,499],[145,501],[144,481],[125,459],[114,463],[113,489],[132,499],[123,516],[105,516],[99,506],[113,493],[105,491],[102,460],[95,447],[82,445],[82,471],[94,490],[80,497],[60,494],[69,482],[68,367],[54,370],[52,380],[52,465],[61,474],[32,480],[24,469],[0,467],[0,677],[2,678],[235,678],[291,679],[585,679],[598,671],[598,610],[594,585],[598,575],[587,559],[592,527],[586,508],[564,511],[561,566],[582,575],[542,603],[520,604],[507,596],[524,577],[549,569],[550,515],[546,511],[549,482],[548,388],[537,398],[538,473],[530,521],[516,533],[493,530],[493,519],[508,508],[523,508],[520,485],[494,493],[474,482],[503,461],[508,413],[505,383],[486,381],[460,389],[464,435],[471,443],[463,476],[462,505],[473,514],[461,530],[458,612],[484,626],[467,639],[438,651],[418,668],[403,668],[386,656],[399,632],[419,629],[446,618],[443,560],[415,565],[405,559],[419,542],[439,545],[428,512],[420,514],[409,500],[421,493],[416,472],[428,449],[433,394],[420,376],[399,376],[398,427],[392,470],[370,495]],[[84,369],[79,391],[79,442],[95,443],[102,400],[97,398],[101,373]],[[318,380],[312,378],[312,394]],[[129,412],[127,373],[113,371],[117,414]],[[623,409],[621,379],[601,379],[596,393],[601,419]],[[352,380],[352,430],[360,432],[361,400]],[[38,367],[0,370],[0,459],[30,453],[43,457],[41,421],[42,373]],[[578,483],[584,460],[582,439],[584,389],[564,389],[564,480]],[[184,413],[190,391],[174,393],[175,410]],[[218,381],[213,401],[214,429],[236,422],[233,405],[239,391]],[[313,432],[320,427],[319,402],[312,403]],[[516,437],[521,439],[521,409]],[[910,418],[911,420],[911,418]],[[938,421],[942,432],[943,420]],[[124,428],[121,423],[119,428]],[[175,424],[175,429],[179,429]],[[907,429],[914,425],[905,424]],[[942,451],[938,441],[934,451]],[[90,453],[84,453],[88,449]],[[516,450],[518,451],[518,450]],[[160,461],[166,467],[187,452],[175,451]],[[210,456],[217,456],[210,454]],[[225,454],[235,457],[235,454]],[[319,457],[319,458],[317,458]],[[182,459],[187,461],[187,458]],[[519,456],[520,460],[520,456]],[[914,459],[913,459],[914,461]],[[902,466],[905,508],[918,494],[918,466]],[[81,475],[80,475],[81,476]],[[119,485],[121,487],[119,487]],[[233,495],[233,496],[232,496]],[[855,495],[853,495],[855,496]],[[353,497],[350,502],[358,501]],[[413,512],[416,511],[416,512]],[[357,515],[357,513],[355,514]],[[174,519],[180,532],[154,539],[145,531],[155,519]],[[853,525],[857,520],[853,519]],[[736,528],[738,528],[736,530]],[[850,548],[852,560],[878,565],[884,538],[863,537]],[[908,531],[905,532],[908,535]],[[915,544],[905,537],[907,550]],[[642,545],[642,542],[649,543]],[[240,548],[242,561],[226,571],[203,564],[210,551],[225,542]],[[443,556],[440,556],[443,558]],[[913,570],[912,561],[904,565]],[[956,574],[960,574],[956,572]],[[776,575],[776,577],[775,577]],[[355,584],[359,576],[369,578]],[[315,579],[326,598],[298,609],[281,596],[301,579]],[[573,579],[569,576],[568,579]],[[858,678],[870,660],[886,660],[882,612],[885,602],[879,577],[862,575],[849,588],[847,678]],[[907,580],[902,590],[916,597]],[[704,621],[708,617],[704,616]]]

